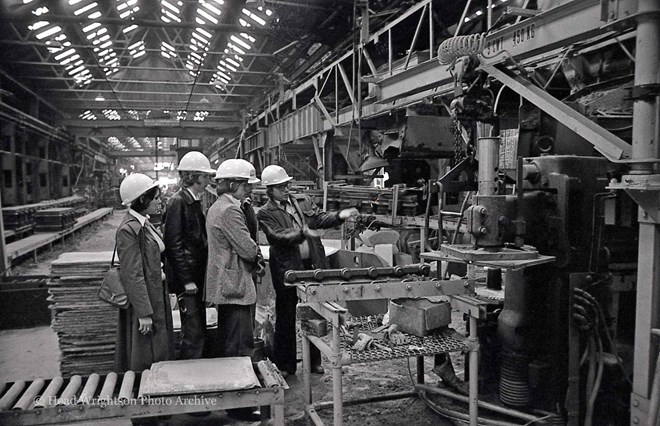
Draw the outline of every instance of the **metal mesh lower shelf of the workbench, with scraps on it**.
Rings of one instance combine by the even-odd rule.
[[[359,323],[359,331],[369,332],[378,326],[373,321],[374,317],[352,318],[352,321]],[[405,345],[392,345],[387,341],[375,339],[380,345],[388,347],[391,351],[372,346],[371,349],[358,351],[353,349],[353,343],[350,337],[342,336],[341,350],[349,354],[353,363],[382,361],[396,358],[408,358],[413,356],[435,355],[445,352],[466,352],[468,350],[465,338],[460,336],[452,328],[446,328],[443,331],[424,337],[417,337],[404,333],[409,337],[410,343]]]

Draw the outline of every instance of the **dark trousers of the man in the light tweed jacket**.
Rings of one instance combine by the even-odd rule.
[[[254,355],[254,305],[217,305],[219,356]]]

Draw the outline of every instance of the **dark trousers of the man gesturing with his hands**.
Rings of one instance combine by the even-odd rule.
[[[280,370],[296,372],[296,305],[295,288],[285,288],[275,294],[275,364]],[[309,345],[311,365],[321,365],[321,352]]]

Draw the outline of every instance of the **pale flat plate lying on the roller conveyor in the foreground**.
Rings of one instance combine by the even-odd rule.
[[[259,380],[250,357],[157,362],[151,366],[144,396],[183,395],[252,389]]]

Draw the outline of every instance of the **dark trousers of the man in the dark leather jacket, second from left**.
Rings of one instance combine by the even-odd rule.
[[[199,359],[204,356],[206,340],[206,307],[202,293],[179,296],[181,342],[179,359]]]

